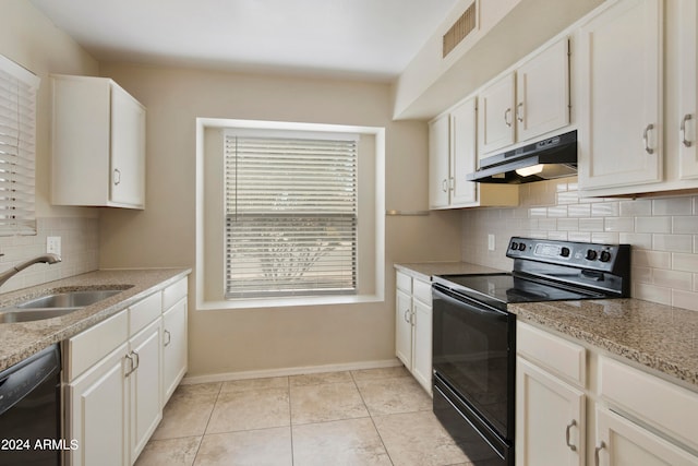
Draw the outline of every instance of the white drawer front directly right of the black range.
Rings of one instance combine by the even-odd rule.
[[[576,383],[586,385],[587,350],[543,330],[517,323],[516,350],[524,358]]]

